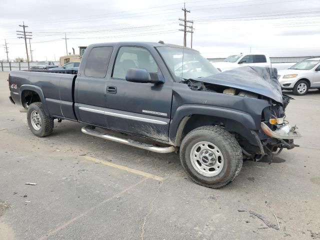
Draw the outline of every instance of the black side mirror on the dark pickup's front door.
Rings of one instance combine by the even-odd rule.
[[[132,81],[132,82],[140,82],[140,83],[154,83],[154,84],[163,84],[164,83],[164,78],[159,77],[157,74],[151,75],[147,70],[143,68],[129,68],[126,72],[125,75],[125,80],[127,81]]]

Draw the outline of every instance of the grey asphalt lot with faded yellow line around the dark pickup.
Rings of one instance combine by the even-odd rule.
[[[175,153],[88,136],[81,123],[55,121],[52,135],[34,136],[6,77],[0,239],[320,239],[319,90],[286,109],[300,147],[271,164],[245,161],[233,183],[210,189],[187,178]],[[277,226],[274,215],[278,230],[267,226]]]

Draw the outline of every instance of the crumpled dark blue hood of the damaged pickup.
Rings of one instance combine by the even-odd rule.
[[[282,104],[282,91],[276,68],[242,66],[192,80],[254,92]]]

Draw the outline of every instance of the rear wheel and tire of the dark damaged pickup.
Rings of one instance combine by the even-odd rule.
[[[50,135],[53,131],[53,117],[46,114],[42,102],[33,102],[27,109],[27,121],[32,133],[38,137]]]

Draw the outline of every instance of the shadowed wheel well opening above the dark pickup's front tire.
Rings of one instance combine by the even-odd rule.
[[[183,119],[181,120],[175,136],[175,145],[179,146],[183,137],[191,130],[206,125],[222,126],[230,133],[234,133],[237,139],[247,139],[248,141],[254,141],[254,139],[252,139],[250,130],[247,129],[245,125],[236,120],[216,116],[194,114],[191,116],[187,116],[187,119],[185,121],[183,121]]]

